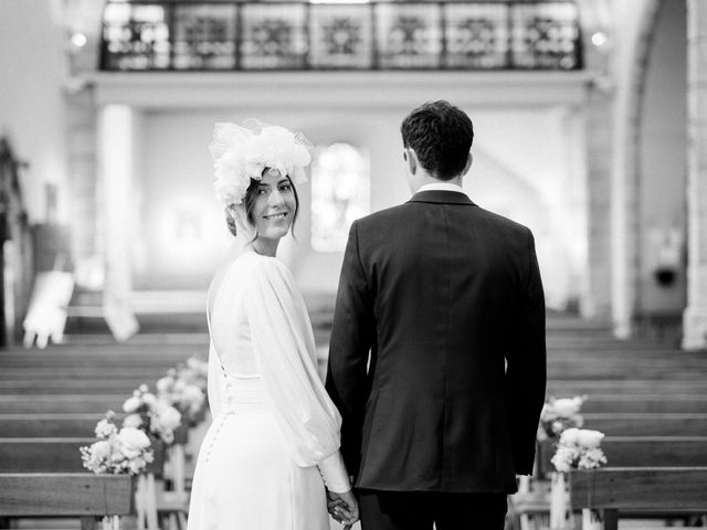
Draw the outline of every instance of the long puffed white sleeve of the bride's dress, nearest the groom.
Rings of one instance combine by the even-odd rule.
[[[242,299],[257,371],[294,462],[320,466],[327,486],[350,489],[338,455],[341,417],[319,379],[312,325],[287,268],[275,258],[244,256]]]

